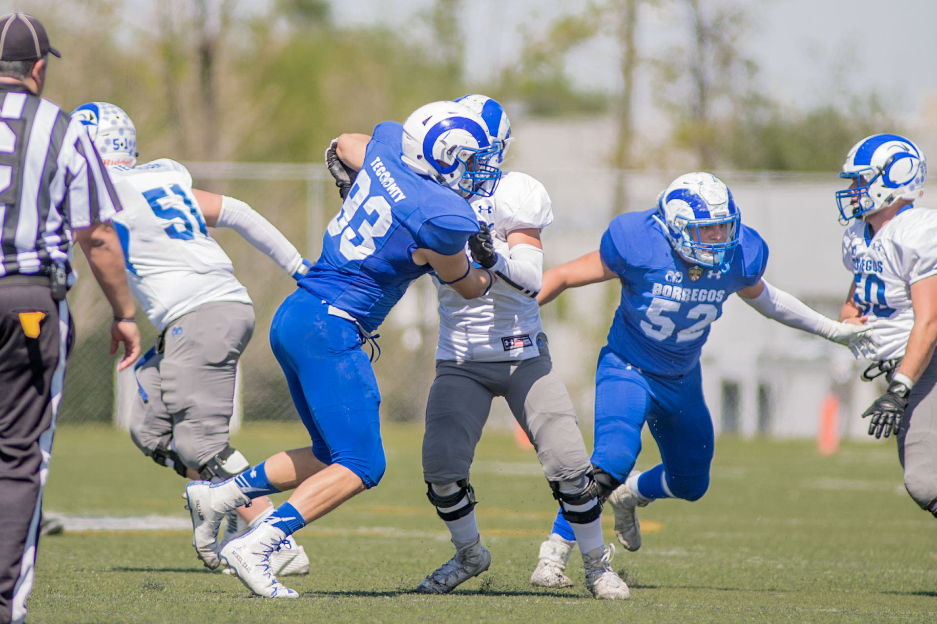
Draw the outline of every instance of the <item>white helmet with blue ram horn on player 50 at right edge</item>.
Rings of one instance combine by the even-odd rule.
[[[836,191],[842,221],[878,212],[899,199],[914,201],[924,194],[927,177],[924,153],[898,134],[873,134],[853,145],[840,177],[855,188]]]

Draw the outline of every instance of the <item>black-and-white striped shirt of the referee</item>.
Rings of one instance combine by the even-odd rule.
[[[120,200],[81,121],[21,84],[0,83],[0,99],[0,278],[35,275]]]

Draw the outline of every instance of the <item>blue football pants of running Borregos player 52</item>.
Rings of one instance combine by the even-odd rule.
[[[605,346],[595,379],[592,464],[619,482],[628,479],[647,421],[662,463],[641,475],[641,494],[685,500],[706,494],[714,435],[699,364],[680,377],[662,377],[638,371]],[[573,529],[560,514],[553,532],[573,540]]]

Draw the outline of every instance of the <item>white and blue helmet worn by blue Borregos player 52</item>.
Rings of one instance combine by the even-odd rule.
[[[670,183],[657,202],[659,214],[654,217],[683,259],[718,266],[723,273],[729,270],[741,219],[729,187],[712,174],[684,174]],[[701,227],[723,223],[727,226],[725,240],[701,241]]]

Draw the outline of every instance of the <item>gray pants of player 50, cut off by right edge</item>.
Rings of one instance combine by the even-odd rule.
[[[898,432],[904,487],[921,509],[937,515],[937,357],[917,380]]]

